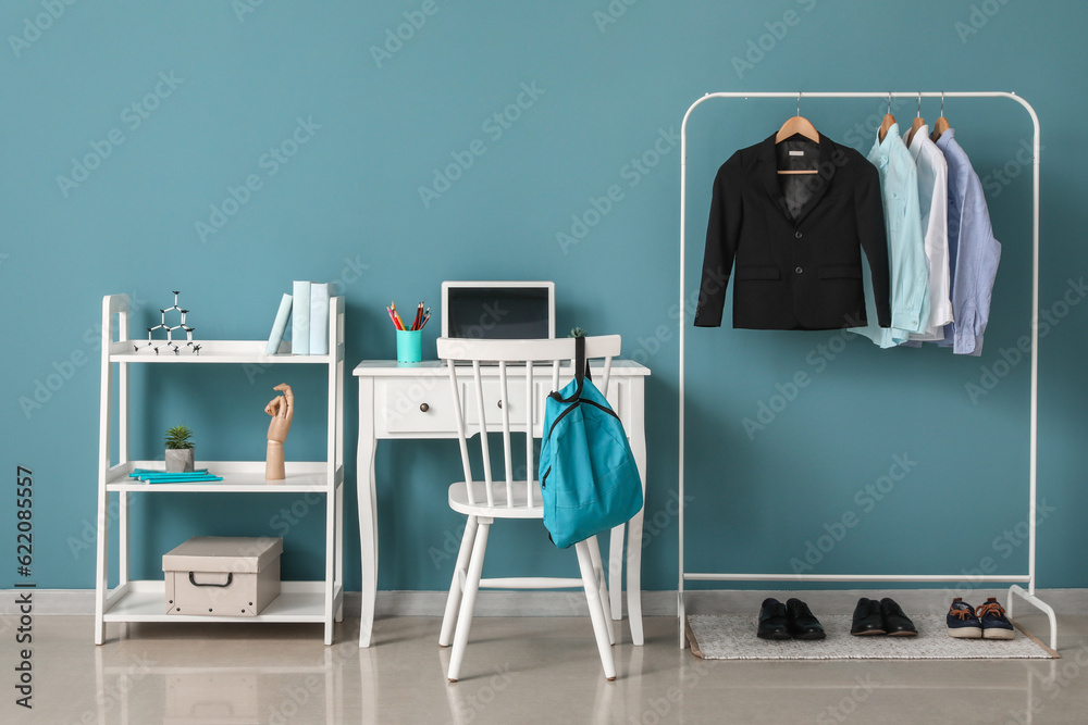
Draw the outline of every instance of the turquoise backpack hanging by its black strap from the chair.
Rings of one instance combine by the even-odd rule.
[[[574,379],[548,395],[540,476],[544,526],[560,549],[626,523],[642,509],[642,478],[619,416],[574,341]]]

